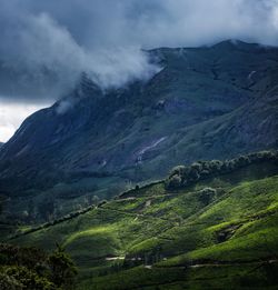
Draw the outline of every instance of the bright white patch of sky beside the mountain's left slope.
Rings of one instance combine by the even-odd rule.
[[[0,102],[0,141],[8,141],[23,120],[41,108],[43,106]]]

